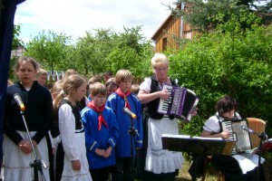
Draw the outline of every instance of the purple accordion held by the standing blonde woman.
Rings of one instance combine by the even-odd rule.
[[[191,119],[190,113],[196,109],[199,97],[192,90],[164,84],[162,90],[168,90],[168,100],[161,100],[158,107],[160,114],[171,115],[187,122]]]

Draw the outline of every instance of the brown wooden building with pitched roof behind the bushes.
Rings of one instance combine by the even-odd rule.
[[[177,8],[186,10],[186,5],[181,4]],[[182,17],[177,18],[170,14],[152,35],[151,40],[155,43],[155,52],[162,52],[167,47],[178,48],[180,38],[192,39],[195,34],[196,32],[191,30]]]

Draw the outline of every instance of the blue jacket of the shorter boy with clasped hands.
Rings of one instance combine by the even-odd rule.
[[[87,148],[87,158],[90,169],[109,167],[115,165],[114,147],[119,136],[118,124],[114,112],[105,107],[102,116],[108,128],[102,124],[102,129],[98,130],[98,112],[86,107],[82,110],[81,116],[85,130],[85,145]],[[95,149],[107,149],[112,146],[112,154],[105,158],[95,154]]]

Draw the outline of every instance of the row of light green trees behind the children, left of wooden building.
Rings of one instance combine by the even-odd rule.
[[[104,71],[129,69],[135,77],[150,75],[153,47],[141,34],[141,26],[124,33],[96,29],[70,44],[71,37],[51,31],[39,33],[26,44],[24,55],[32,56],[46,70],[75,69],[86,77]]]

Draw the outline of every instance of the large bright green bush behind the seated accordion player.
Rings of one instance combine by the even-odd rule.
[[[228,94],[238,100],[243,118],[264,119],[272,134],[272,26],[253,24],[243,30],[236,26],[242,19],[234,15],[214,33],[195,37],[185,50],[166,52],[170,77],[200,97],[198,116],[181,124],[183,132],[199,135],[205,120],[215,113],[216,101]]]

